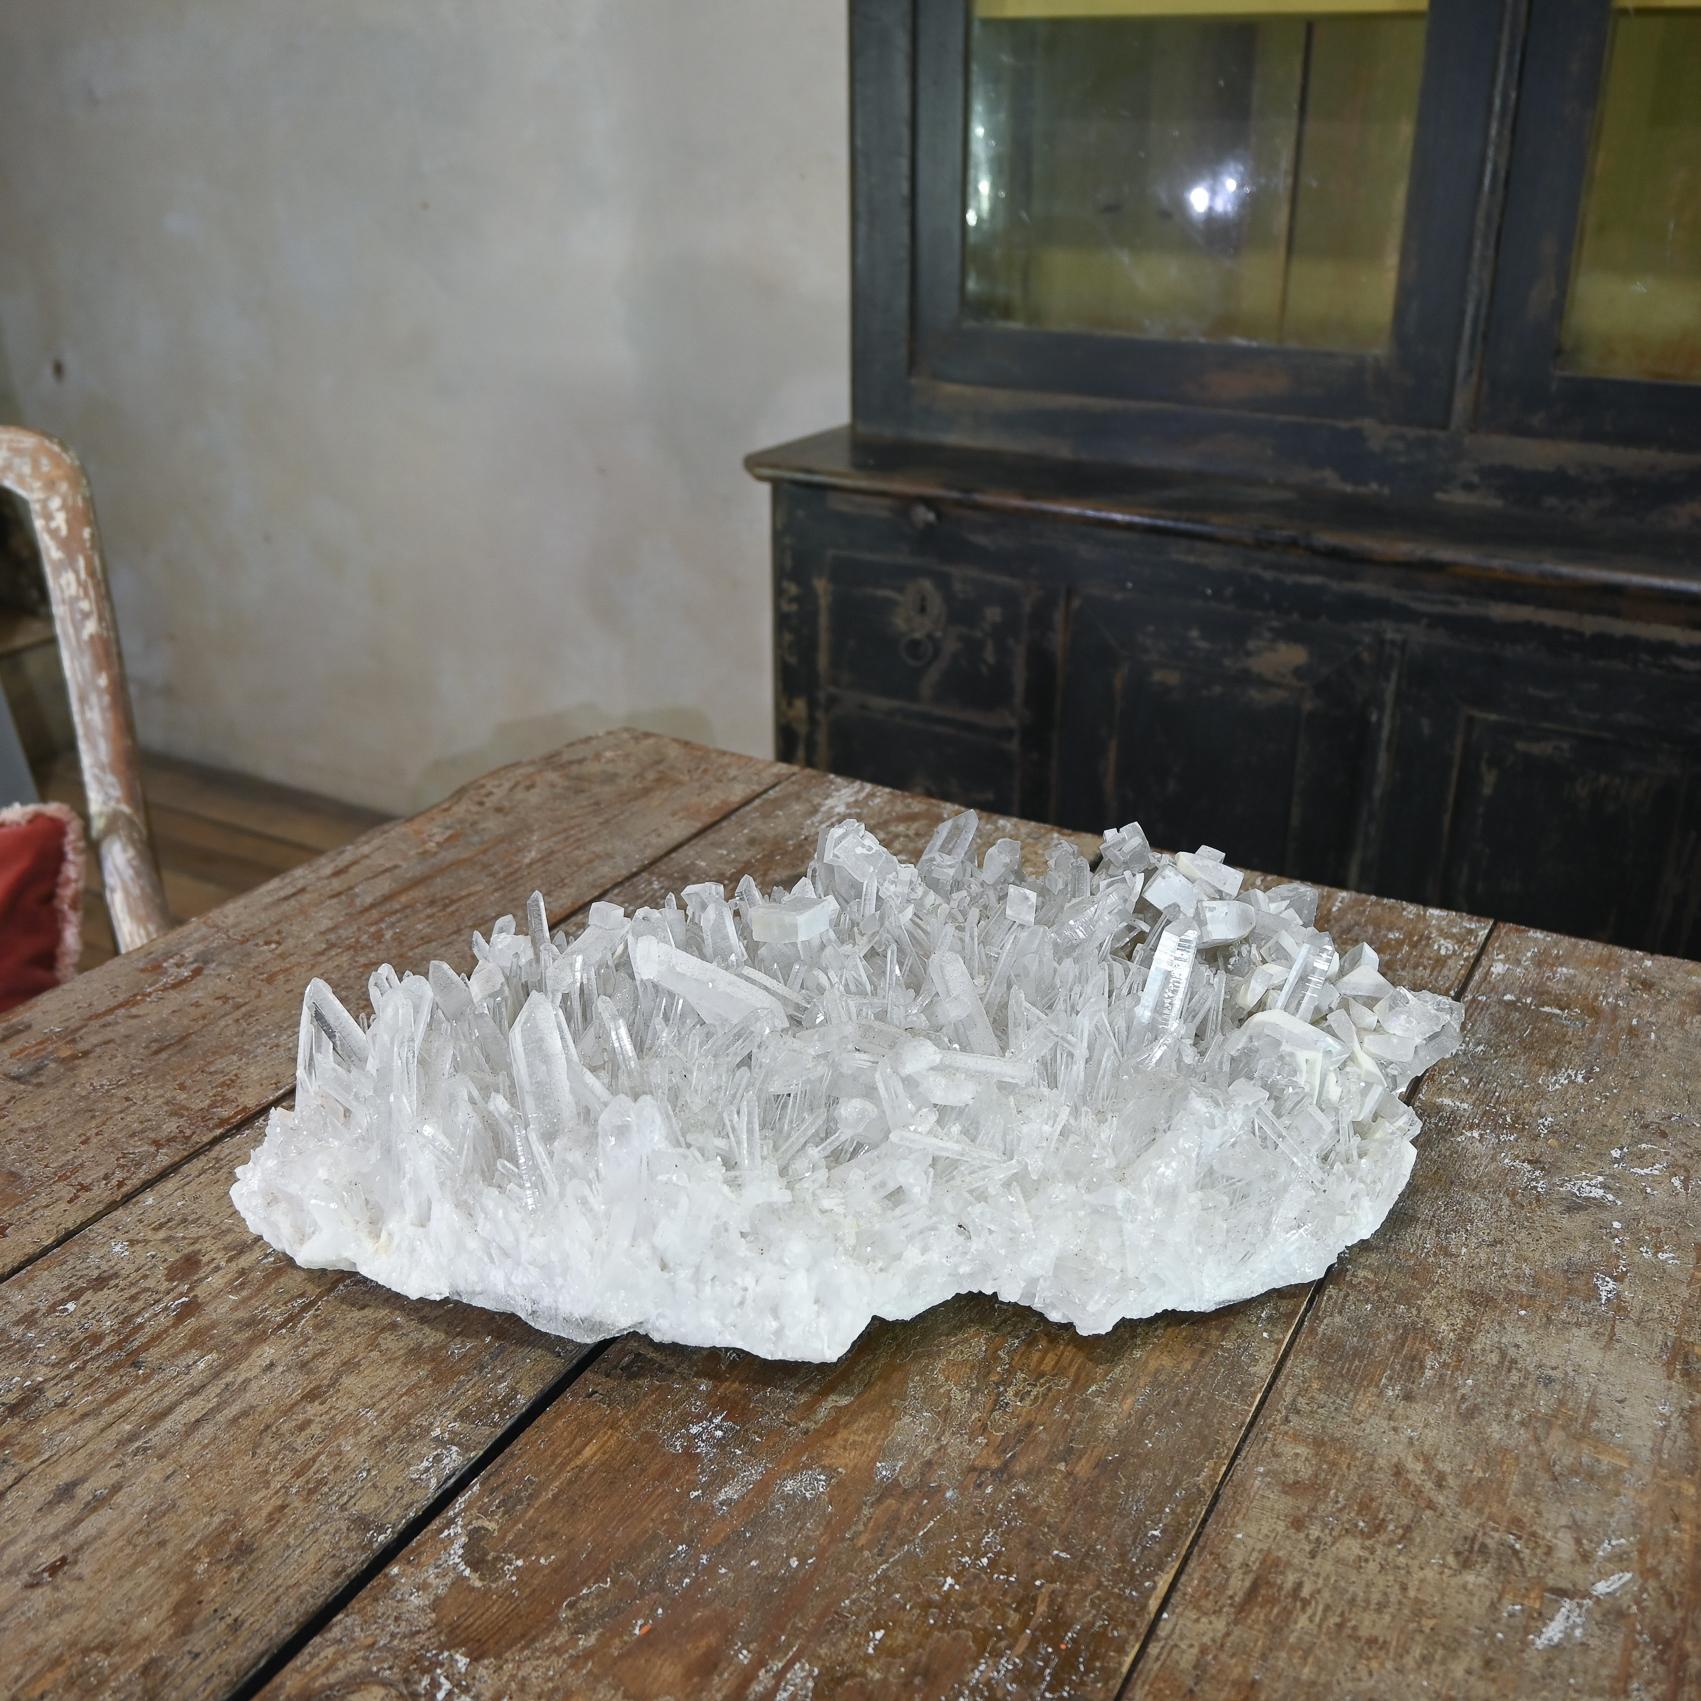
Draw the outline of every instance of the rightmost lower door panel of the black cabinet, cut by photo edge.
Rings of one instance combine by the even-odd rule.
[[[1378,891],[1701,951],[1701,677],[1424,643],[1407,657]]]

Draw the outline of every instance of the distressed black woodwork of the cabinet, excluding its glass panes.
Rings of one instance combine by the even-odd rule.
[[[1436,0],[1378,356],[961,310],[963,0],[850,0],[854,427],[791,760],[1701,953],[1701,386],[1555,367],[1609,0]]]

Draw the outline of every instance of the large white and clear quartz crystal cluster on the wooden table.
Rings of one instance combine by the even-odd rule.
[[[687,886],[476,966],[315,980],[231,1192],[301,1264],[595,1340],[832,1359],[985,1291],[1095,1334],[1318,1276],[1412,1169],[1459,1007],[1337,953],[1221,852],[910,864],[854,820],[789,891]]]

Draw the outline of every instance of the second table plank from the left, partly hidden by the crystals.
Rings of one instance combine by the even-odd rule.
[[[949,813],[794,772],[611,898],[793,879],[847,811],[907,850]],[[471,902],[488,922],[483,886]],[[514,1318],[270,1252],[226,1198],[255,1135],[0,1284],[0,1647],[19,1692],[238,1682],[578,1357]]]

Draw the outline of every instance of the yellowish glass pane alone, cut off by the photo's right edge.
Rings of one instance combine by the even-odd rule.
[[[1701,379],[1701,5],[1614,10],[1560,361]]]

